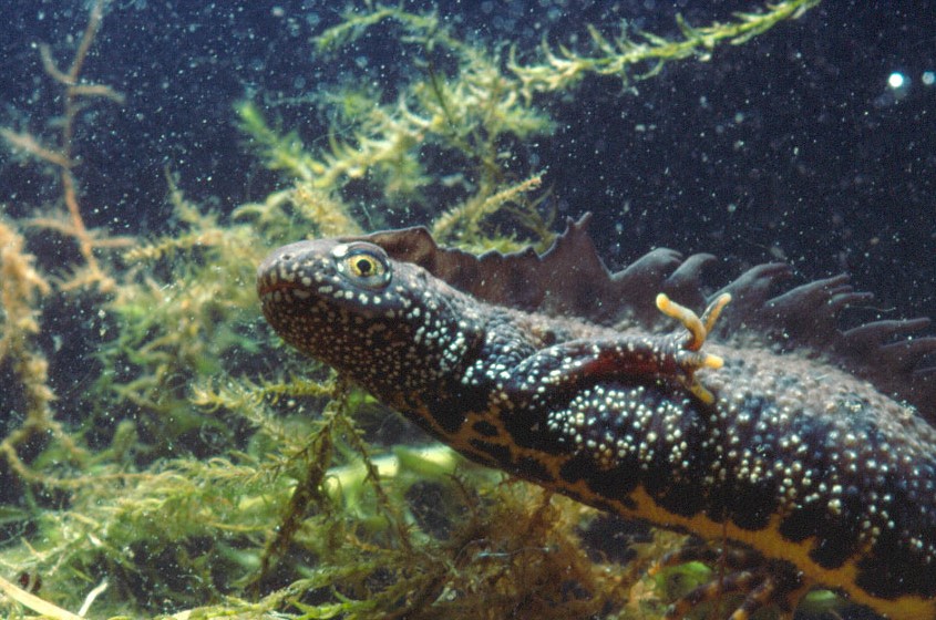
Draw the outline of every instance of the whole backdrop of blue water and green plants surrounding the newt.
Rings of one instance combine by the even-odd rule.
[[[542,250],[592,211],[615,270],[784,260],[874,292],[855,324],[936,317],[932,2],[0,7],[0,577],[61,613],[671,600],[639,569],[675,538],[426,447],[282,347],[254,271],[285,242]]]

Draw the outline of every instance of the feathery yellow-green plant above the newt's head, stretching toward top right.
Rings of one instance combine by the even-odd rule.
[[[657,75],[669,62],[710,60],[718,45],[742,44],[816,4],[785,0],[703,27],[678,17],[680,40],[626,28],[609,38],[589,25],[592,49],[577,52],[563,44],[556,51],[545,40],[538,50],[503,43],[481,49],[435,13],[367,2],[348,10],[315,42],[322,53],[338,54],[373,29],[399,31],[399,44],[414,60],[402,72],[405,81],[392,84],[394,95],[364,89],[360,81],[322,85],[309,101],[330,118],[326,148],[309,148],[295,131],[269,126],[254,102],[243,102],[237,112],[250,144],[271,168],[336,200],[371,203],[370,227],[431,219],[442,242],[472,250],[533,242],[542,249],[552,240],[554,213],[548,192],[535,193],[543,172],[526,167],[525,151],[556,128],[546,95],[568,96],[588,75],[628,84]],[[399,217],[401,209],[405,217]]]

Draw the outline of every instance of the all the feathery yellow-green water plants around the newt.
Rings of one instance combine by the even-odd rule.
[[[80,80],[103,14],[94,2],[68,71],[43,48],[64,90],[56,143],[0,130],[53,169],[62,195],[32,220],[0,217],[0,613],[658,617],[667,588],[645,569],[677,537],[634,529],[616,550],[588,545],[607,516],[421,445],[410,425],[280,345],[259,317],[254,270],[298,236],[401,214],[441,242],[542,248],[548,188],[521,155],[555,131],[544,101],[574,101],[589,75],[628,83],[706,60],[815,3],[680,21],[672,41],[592,29],[583,52],[466,42],[436,14],[367,3],[310,51],[338,63],[369,29],[389,29],[409,50],[401,83],[385,85],[392,96],[323,84],[310,102],[329,133],[312,146],[261,100],[239,103],[248,144],[288,187],[220,214],[187,200],[169,173],[169,228],[128,239],[85,228],[72,163],[76,112],[120,99]],[[45,272],[28,239],[49,236],[78,251]],[[81,317],[73,338],[92,350],[78,362],[78,395],[50,386],[61,354],[41,338],[50,309]]]

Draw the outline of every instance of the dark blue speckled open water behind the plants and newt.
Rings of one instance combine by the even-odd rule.
[[[64,64],[85,23],[85,3],[4,3],[0,124],[54,135],[61,90],[43,73],[37,43],[49,43]],[[270,115],[313,142],[327,122],[304,97],[340,81],[341,72],[361,71],[392,93],[411,65],[385,33],[363,38],[343,60],[315,54],[310,40],[340,20],[336,6],[110,3],[83,78],[126,101],[95,103],[79,125],[89,224],[158,232],[169,214],[166,168],[192,199],[222,210],[282,185],[244,147],[233,104],[245,96],[263,97]],[[508,39],[522,50],[543,37],[584,41],[586,23],[614,33],[628,20],[675,35],[677,12],[704,24],[751,7],[689,0],[436,6],[460,37]],[[851,272],[882,308],[896,307],[894,316],[936,316],[934,72],[932,2],[825,2],[744,45],[718,49],[709,62],[673,63],[636,84],[637,93],[593,78],[566,101],[544,101],[559,130],[527,145],[526,154],[547,170],[545,185],[564,215],[596,213],[598,242],[611,264],[655,246],[711,251],[738,265],[778,256],[804,277]],[[904,78],[902,86],[888,85],[894,74]],[[58,192],[41,167],[21,166],[6,149],[0,188],[13,216]],[[415,223],[405,219],[400,224]]]

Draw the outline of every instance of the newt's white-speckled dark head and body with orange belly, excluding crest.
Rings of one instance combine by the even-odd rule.
[[[287,342],[470,458],[936,619],[936,432],[851,374],[708,342],[724,366],[696,374],[707,403],[683,330],[486,304],[361,241],[286,246],[258,291]]]

